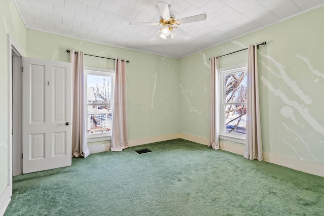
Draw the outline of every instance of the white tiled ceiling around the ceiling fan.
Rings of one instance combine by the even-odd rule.
[[[323,6],[324,0],[162,0],[175,19],[207,14],[179,25],[192,37],[150,38],[160,26],[157,0],[15,0],[27,28],[180,59],[287,17]],[[256,41],[262,42],[262,41]]]

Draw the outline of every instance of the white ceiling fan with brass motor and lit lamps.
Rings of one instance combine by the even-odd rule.
[[[189,39],[191,38],[191,35],[174,25],[203,21],[207,18],[207,14],[199,14],[177,20],[174,17],[172,17],[172,15],[170,15],[168,3],[157,2],[157,6],[161,13],[161,18],[159,22],[130,22],[130,25],[163,25],[164,27],[160,28],[156,32],[156,34],[150,39],[151,41],[155,41],[158,38],[158,36],[163,39],[167,39],[167,37],[171,35],[171,38],[174,38],[176,34],[182,34],[184,39]]]

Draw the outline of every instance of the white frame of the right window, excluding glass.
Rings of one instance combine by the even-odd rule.
[[[219,139],[228,140],[235,143],[246,143],[246,135],[239,135],[239,134],[228,134],[225,132],[225,83],[224,77],[227,74],[240,72],[242,70],[247,71],[247,63],[233,65],[225,68],[219,69]],[[238,104],[238,103],[235,103]],[[247,104],[247,103],[241,103]]]

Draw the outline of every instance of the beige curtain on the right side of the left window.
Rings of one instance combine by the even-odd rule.
[[[111,151],[122,151],[128,147],[126,90],[126,62],[118,58],[115,60]]]

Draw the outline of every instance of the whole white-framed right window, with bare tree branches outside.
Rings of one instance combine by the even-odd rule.
[[[247,119],[247,67],[220,70],[220,138],[244,143]]]

